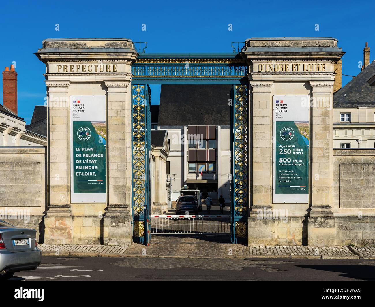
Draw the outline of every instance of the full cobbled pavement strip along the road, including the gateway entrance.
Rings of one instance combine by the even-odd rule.
[[[43,256],[110,256],[153,258],[291,258],[375,259],[375,247],[245,246],[231,244],[228,235],[153,235],[151,245],[46,245]]]

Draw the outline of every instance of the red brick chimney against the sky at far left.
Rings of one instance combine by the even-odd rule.
[[[3,105],[17,115],[17,72],[13,64],[3,71]]]

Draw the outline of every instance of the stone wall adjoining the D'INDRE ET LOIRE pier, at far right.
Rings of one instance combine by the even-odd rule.
[[[375,244],[375,149],[334,150],[335,244]]]

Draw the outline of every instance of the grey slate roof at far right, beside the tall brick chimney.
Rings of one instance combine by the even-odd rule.
[[[375,87],[367,81],[375,75],[375,61],[333,94],[334,106],[375,106]],[[346,96],[344,96],[346,94]]]

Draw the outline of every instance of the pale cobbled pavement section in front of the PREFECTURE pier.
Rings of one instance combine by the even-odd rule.
[[[89,254],[123,254],[129,246],[108,246],[108,245],[47,245],[40,244],[39,249],[42,255],[54,253],[56,256],[74,253]]]

